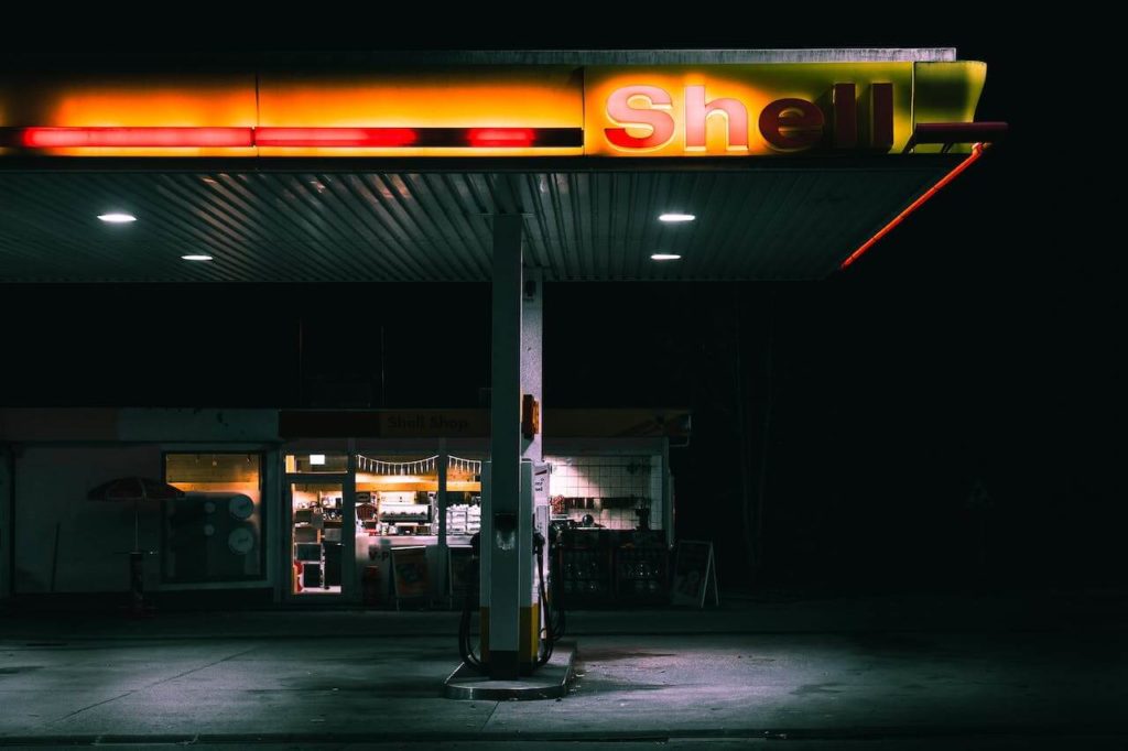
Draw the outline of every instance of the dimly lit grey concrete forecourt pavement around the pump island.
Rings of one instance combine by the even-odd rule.
[[[0,745],[1128,748],[1123,600],[993,601],[575,613],[581,677],[534,703],[440,697],[452,613],[9,615]]]

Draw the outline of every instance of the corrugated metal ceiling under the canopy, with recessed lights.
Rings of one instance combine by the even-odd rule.
[[[488,281],[490,217],[513,212],[526,218],[527,264],[553,281],[822,279],[955,161],[0,171],[0,281]],[[96,219],[112,210],[138,221]],[[666,211],[697,221],[656,221]],[[192,253],[214,260],[180,259]]]

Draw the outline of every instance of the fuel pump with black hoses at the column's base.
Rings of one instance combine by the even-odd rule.
[[[522,460],[517,513],[494,511],[490,474],[490,462],[484,462],[482,531],[470,540],[469,578],[479,586],[469,587],[462,604],[458,647],[465,663],[491,678],[511,679],[548,662],[563,635],[564,617],[546,574],[547,465]],[[475,602],[481,622],[477,652],[470,635]]]

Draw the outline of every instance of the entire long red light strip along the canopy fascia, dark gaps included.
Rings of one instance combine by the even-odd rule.
[[[583,145],[581,127],[17,127],[0,141],[26,149],[74,147],[469,148]]]

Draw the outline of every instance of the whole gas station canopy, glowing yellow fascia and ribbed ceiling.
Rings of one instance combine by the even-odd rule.
[[[822,279],[1001,130],[950,48],[17,62],[9,282]]]

